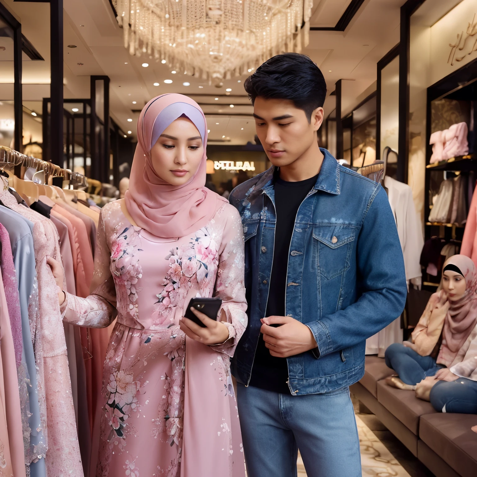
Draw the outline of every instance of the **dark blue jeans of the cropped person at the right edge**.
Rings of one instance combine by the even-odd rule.
[[[477,414],[477,381],[438,381],[431,389],[430,399],[438,412]]]

